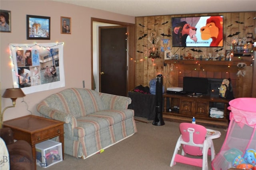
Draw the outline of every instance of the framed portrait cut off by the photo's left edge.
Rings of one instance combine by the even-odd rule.
[[[11,32],[11,12],[0,10],[0,32]]]

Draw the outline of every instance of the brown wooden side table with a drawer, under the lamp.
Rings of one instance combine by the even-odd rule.
[[[32,146],[33,158],[36,164],[36,144],[59,136],[62,143],[62,158],[64,159],[64,122],[46,119],[35,115],[27,115],[4,121],[4,127],[10,127],[15,140],[27,141]]]

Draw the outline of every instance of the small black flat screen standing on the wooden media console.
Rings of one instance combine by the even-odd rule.
[[[183,77],[183,91],[186,93],[208,94],[208,78]]]

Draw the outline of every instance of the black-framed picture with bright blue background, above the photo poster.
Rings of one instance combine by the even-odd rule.
[[[27,39],[50,39],[50,17],[27,15]]]

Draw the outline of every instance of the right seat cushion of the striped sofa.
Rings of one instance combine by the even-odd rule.
[[[134,111],[131,109],[126,110],[103,110],[97,111],[93,114],[88,115],[89,117],[99,117],[105,118],[108,120],[110,125],[114,125],[120,121],[124,121],[125,119],[129,119],[134,116]]]

